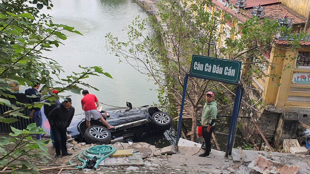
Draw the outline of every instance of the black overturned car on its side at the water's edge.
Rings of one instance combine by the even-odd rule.
[[[127,102],[127,108],[111,108],[99,111],[108,122],[114,126],[107,129],[100,120],[91,118],[91,126],[87,128],[84,113],[74,115],[67,129],[67,134],[79,141],[93,144],[109,144],[115,142],[134,142],[147,136],[149,133],[165,131],[170,128],[170,115],[154,106],[132,108]]]

